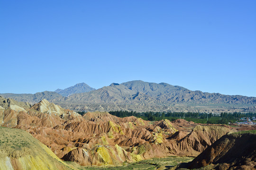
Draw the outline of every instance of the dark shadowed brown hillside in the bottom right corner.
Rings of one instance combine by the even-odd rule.
[[[207,147],[193,161],[178,169],[255,170],[256,133],[230,133]]]

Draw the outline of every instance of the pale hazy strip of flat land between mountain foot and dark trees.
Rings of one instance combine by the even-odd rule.
[[[155,111],[155,112],[239,112],[245,111],[250,105],[232,105],[232,104],[201,104],[201,105],[185,105],[185,104],[170,104],[170,105],[150,105],[146,103],[139,104],[95,104],[95,103],[69,103],[69,102],[54,102],[63,108],[76,111],[113,111],[113,110],[127,110],[127,111]],[[248,109],[247,109],[248,110]],[[248,111],[252,111],[250,109]]]

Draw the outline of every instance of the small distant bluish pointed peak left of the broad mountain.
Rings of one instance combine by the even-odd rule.
[[[90,87],[89,85],[87,85],[85,83],[78,83],[78,84],[73,85],[71,87],[65,88],[64,90],[57,89],[57,90],[55,90],[55,92],[67,97],[71,94],[91,92],[93,90],[96,90],[96,89]]]

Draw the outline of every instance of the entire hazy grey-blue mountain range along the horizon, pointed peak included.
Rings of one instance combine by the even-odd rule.
[[[35,94],[0,94],[19,102],[46,99],[66,109],[87,111],[256,111],[256,97],[191,91],[178,85],[148,83],[141,80],[112,83],[100,89],[80,83],[64,90]]]

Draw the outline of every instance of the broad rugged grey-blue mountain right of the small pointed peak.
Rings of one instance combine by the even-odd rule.
[[[139,98],[139,100],[137,100]],[[212,104],[256,104],[256,97],[223,95],[191,91],[166,83],[131,81],[123,84],[112,83],[90,93],[73,94],[65,101],[91,103],[212,103]]]

